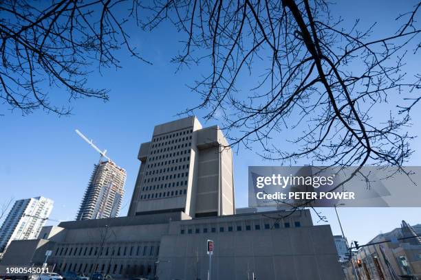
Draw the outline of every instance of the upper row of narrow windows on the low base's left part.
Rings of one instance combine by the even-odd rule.
[[[156,256],[160,246],[85,246],[56,248],[56,256]]]

